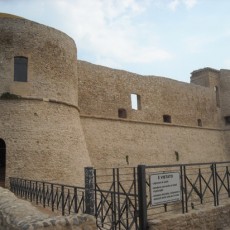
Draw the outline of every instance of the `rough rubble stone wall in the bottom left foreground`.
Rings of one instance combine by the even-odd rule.
[[[50,216],[0,187],[0,230],[95,230],[95,218],[82,214]]]

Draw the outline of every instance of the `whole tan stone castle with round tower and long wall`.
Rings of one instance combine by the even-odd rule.
[[[0,49],[0,185],[230,159],[230,70],[196,70],[188,84],[90,64],[63,32],[9,14]]]

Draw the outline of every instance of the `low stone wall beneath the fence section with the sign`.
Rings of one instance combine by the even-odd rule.
[[[230,203],[207,207],[186,214],[165,215],[163,219],[149,222],[149,230],[229,230]]]

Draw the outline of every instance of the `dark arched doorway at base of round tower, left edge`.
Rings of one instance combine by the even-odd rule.
[[[0,138],[0,187],[5,187],[6,177],[6,143]]]

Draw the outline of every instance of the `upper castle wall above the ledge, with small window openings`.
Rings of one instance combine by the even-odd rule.
[[[220,111],[213,89],[175,80],[139,76],[126,71],[78,62],[81,115],[118,118],[118,109],[130,120],[163,123],[170,115],[173,124],[219,127]],[[131,108],[130,95],[140,95],[141,109]]]

